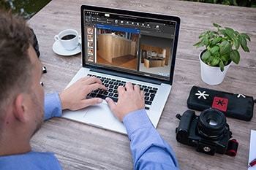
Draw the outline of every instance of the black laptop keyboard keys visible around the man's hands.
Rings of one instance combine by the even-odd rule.
[[[109,98],[112,98],[113,101],[115,101],[115,102],[118,101],[117,88],[118,88],[118,86],[125,86],[126,82],[121,81],[121,80],[111,79],[108,77],[96,76],[96,75],[92,75],[92,74],[88,74],[88,76],[94,76],[94,77],[99,78],[99,80],[102,81],[102,84],[108,88],[108,90],[100,90],[100,89],[94,90],[88,94],[89,97],[91,97],[91,98],[98,97],[98,98],[102,98],[102,99],[109,97]],[[138,85],[140,87],[140,90],[144,91],[145,104],[148,106],[151,106],[152,101],[154,100],[154,97],[156,96],[158,88],[153,88],[151,86],[140,85],[140,84],[135,84],[135,83],[132,83],[132,85]],[[145,109],[149,109],[149,107],[145,107]]]

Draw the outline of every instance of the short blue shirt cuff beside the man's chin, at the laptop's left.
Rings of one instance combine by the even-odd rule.
[[[44,120],[51,117],[61,117],[61,99],[58,93],[48,93],[45,95],[45,116]]]

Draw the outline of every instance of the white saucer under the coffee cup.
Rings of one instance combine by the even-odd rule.
[[[53,52],[58,54],[58,55],[64,55],[64,56],[69,56],[69,55],[76,55],[81,52],[81,47],[80,43],[78,47],[76,47],[74,50],[66,50],[64,47],[62,47],[61,42],[59,40],[55,41],[53,43]]]

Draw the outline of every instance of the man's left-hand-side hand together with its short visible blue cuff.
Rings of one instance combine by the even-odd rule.
[[[45,95],[45,116],[44,120],[51,117],[60,117],[63,109],[78,110],[93,104],[102,102],[102,98],[86,98],[92,90],[104,89],[102,82],[97,77],[83,77],[60,95],[50,93]]]

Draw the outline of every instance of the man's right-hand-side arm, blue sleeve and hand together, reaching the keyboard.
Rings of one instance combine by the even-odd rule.
[[[144,94],[138,85],[118,87],[118,102],[106,98],[110,109],[124,122],[130,139],[134,169],[178,169],[169,144],[158,134],[144,109]]]

